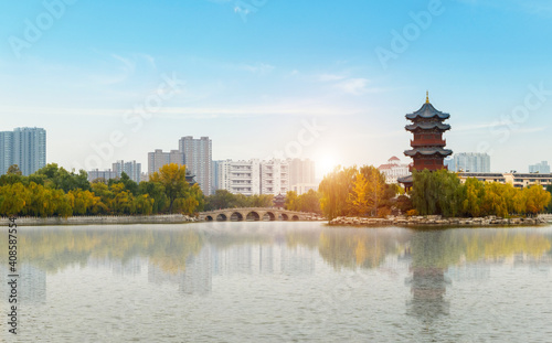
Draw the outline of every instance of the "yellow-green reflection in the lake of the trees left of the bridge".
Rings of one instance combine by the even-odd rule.
[[[21,261],[46,271],[62,270],[91,257],[120,260],[148,257],[164,272],[185,269],[185,260],[197,255],[203,237],[194,231],[155,229],[28,229],[20,236]]]

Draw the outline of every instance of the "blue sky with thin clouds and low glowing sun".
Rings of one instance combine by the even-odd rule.
[[[548,0],[2,1],[0,130],[42,127],[46,162],[212,139],[213,160],[410,159],[404,115],[449,112],[454,152],[552,161]]]

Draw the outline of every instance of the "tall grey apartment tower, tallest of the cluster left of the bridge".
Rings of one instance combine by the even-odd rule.
[[[178,142],[179,151],[184,154],[185,168],[195,175],[203,194],[211,194],[212,142],[209,137],[194,139],[182,137]]]

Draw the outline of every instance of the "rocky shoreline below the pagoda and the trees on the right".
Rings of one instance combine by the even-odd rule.
[[[444,218],[440,215],[427,216],[389,216],[386,218],[371,217],[337,217],[331,219],[329,225],[346,226],[523,226],[523,225],[551,225],[542,217],[516,217],[501,218],[497,216],[486,217],[453,217]]]

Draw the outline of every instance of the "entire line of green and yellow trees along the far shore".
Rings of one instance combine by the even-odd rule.
[[[0,216],[109,216],[182,214],[234,207],[272,207],[273,196],[245,196],[217,190],[205,196],[187,181],[185,165],[167,164],[136,183],[123,173],[118,179],[89,182],[85,171],[68,172],[51,163],[24,176],[17,165],[0,176]],[[470,218],[532,217],[552,213],[552,185],[517,189],[511,184],[467,179],[446,170],[413,172],[406,194],[372,165],[338,167],[320,182],[318,192],[287,192],[285,208],[337,217],[385,218],[390,215]]]

